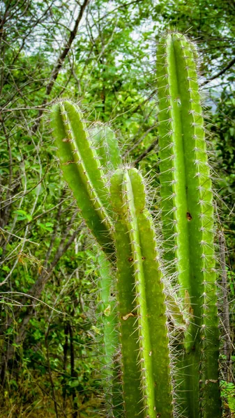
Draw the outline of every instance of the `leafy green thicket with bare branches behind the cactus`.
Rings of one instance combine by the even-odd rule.
[[[169,28],[202,53],[234,343],[234,20],[234,0],[1,1],[0,417],[103,409],[96,251],[61,179],[47,114],[58,97],[82,101],[89,124],[112,123],[123,155],[153,176],[155,49]]]

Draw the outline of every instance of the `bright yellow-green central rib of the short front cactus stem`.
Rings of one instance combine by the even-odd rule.
[[[134,277],[135,277],[135,301],[137,314],[137,332],[139,337],[139,365],[141,371],[140,385],[144,396],[144,408],[146,415],[154,416],[154,389],[153,369],[151,355],[153,348],[150,343],[149,324],[147,320],[146,291],[144,277],[144,254],[139,237],[139,225],[137,217],[144,210],[144,184],[135,176],[134,169],[123,173],[122,196],[123,210],[130,239]],[[131,176],[131,177],[130,177]],[[136,184],[137,183],[137,184]],[[135,188],[135,189],[133,189]],[[138,189],[139,188],[139,189]],[[154,258],[153,258],[154,259]]]

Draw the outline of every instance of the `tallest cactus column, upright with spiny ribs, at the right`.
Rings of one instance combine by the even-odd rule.
[[[165,258],[190,318],[178,362],[179,404],[189,418],[221,417],[213,194],[195,46],[170,33],[157,55],[160,195]]]

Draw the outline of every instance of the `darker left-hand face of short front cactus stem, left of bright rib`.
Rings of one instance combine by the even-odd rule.
[[[122,170],[117,170],[111,178],[111,199],[114,210],[119,212],[123,205],[121,199]],[[138,344],[135,332],[137,314],[135,313],[135,295],[133,295],[132,251],[126,220],[120,213],[115,224],[115,246],[117,251],[117,300],[119,311],[119,340],[121,343],[121,374],[123,400],[126,417],[144,418],[139,387],[140,368],[138,364]],[[140,413],[139,413],[140,412]]]

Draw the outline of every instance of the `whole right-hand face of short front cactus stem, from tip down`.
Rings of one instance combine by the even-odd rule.
[[[139,251],[139,265],[142,264],[142,277],[135,281],[143,281],[143,291],[139,289],[139,304],[146,300],[146,307],[143,314],[146,315],[146,347],[143,353],[146,355],[146,367],[152,369],[153,379],[149,386],[153,385],[153,396],[156,415],[160,417],[172,416],[172,385],[169,376],[169,339],[167,335],[166,301],[162,284],[162,273],[158,261],[158,250],[156,247],[156,233],[153,226],[153,219],[149,210],[145,208],[145,187],[142,176],[135,169],[130,169],[128,176],[129,184],[132,187],[132,195],[135,203],[137,219],[136,230],[139,235],[137,249]],[[136,238],[137,240],[137,238]],[[134,239],[135,242],[135,239]],[[138,269],[138,264],[137,264]],[[137,289],[138,292],[138,289]],[[139,324],[143,326],[142,323]],[[152,332],[152,330],[155,330]],[[147,334],[149,333],[149,335]],[[144,336],[144,335],[143,335]],[[143,356],[144,357],[144,356]],[[146,374],[149,373],[146,371]],[[151,394],[149,394],[150,398]],[[149,408],[150,409],[150,408]],[[154,417],[154,415],[153,415]]]

